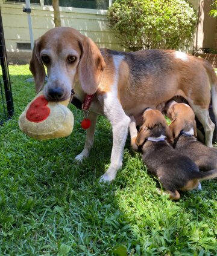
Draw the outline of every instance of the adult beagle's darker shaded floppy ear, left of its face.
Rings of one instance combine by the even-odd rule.
[[[30,61],[30,71],[33,74],[36,93],[42,90],[45,83],[45,67],[43,66],[42,60],[40,59],[40,39],[34,42],[33,53]]]

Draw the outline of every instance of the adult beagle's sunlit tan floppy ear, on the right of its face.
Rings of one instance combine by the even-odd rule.
[[[94,94],[101,80],[105,61],[96,44],[90,38],[84,38],[80,42],[81,59],[78,67],[78,75],[84,93]]]

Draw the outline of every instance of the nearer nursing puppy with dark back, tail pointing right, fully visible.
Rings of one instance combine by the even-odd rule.
[[[159,110],[148,108],[145,111],[139,133],[132,116],[129,127],[133,149],[140,148],[148,172],[158,177],[170,199],[180,199],[178,191],[198,188],[200,180],[217,177],[217,169],[200,172],[189,157],[178,153],[166,142],[166,136],[170,138],[171,133]]]

